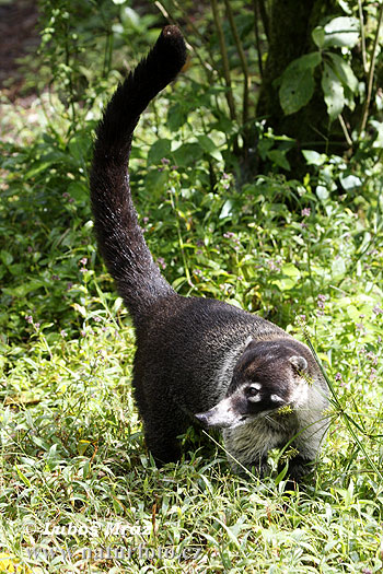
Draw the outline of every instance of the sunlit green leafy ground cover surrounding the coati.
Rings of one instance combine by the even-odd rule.
[[[118,78],[91,84],[85,108],[58,91],[32,110],[3,106],[0,569],[381,572],[379,138],[352,162],[304,151],[300,179],[274,165],[243,183],[225,172],[228,126],[211,114],[222,91],[197,68],[142,118],[135,201],[169,281],[310,340],[333,391],[305,488],[286,490],[277,453],[270,478],[234,477],[219,437],[193,433],[182,461],[159,470],[131,397],[131,324],[88,200],[92,130]],[[266,153],[276,140],[258,130]]]

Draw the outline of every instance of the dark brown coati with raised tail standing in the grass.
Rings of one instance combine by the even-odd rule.
[[[153,261],[132,203],[134,130],[185,61],[181,32],[166,26],[104,112],[90,180],[100,250],[135,326],[132,384],[147,446],[158,464],[175,461],[190,424],[219,426],[234,470],[263,476],[268,450],[291,444],[289,472],[300,479],[327,426],[327,387],[311,351],[256,315],[178,295]]]

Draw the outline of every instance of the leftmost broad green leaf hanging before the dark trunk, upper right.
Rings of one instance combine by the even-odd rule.
[[[305,106],[314,93],[313,70],[321,62],[318,51],[306,54],[289,63],[279,89],[280,105],[288,116]]]

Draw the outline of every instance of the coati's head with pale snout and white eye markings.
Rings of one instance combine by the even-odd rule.
[[[232,429],[281,407],[299,407],[310,385],[309,355],[293,339],[251,340],[235,364],[225,397],[196,418],[207,426]]]

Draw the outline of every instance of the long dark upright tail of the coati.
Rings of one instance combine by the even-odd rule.
[[[131,138],[149,102],[177,75],[186,47],[176,26],[166,26],[147,58],[118,86],[94,144],[91,200],[101,253],[134,320],[173,292],[147,247],[134,207],[128,161]]]

